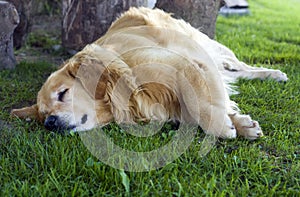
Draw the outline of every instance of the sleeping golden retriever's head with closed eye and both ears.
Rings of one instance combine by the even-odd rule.
[[[112,121],[107,95],[108,69],[94,54],[80,52],[52,73],[30,107],[12,110],[19,118],[36,119],[49,130],[77,131]]]

